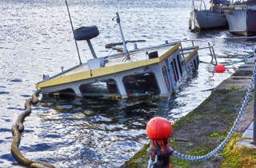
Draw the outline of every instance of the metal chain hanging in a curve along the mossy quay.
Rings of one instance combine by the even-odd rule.
[[[186,154],[180,154],[180,153],[178,153],[177,151],[174,150],[174,153],[173,153],[174,157],[180,158],[180,159],[186,160],[186,161],[200,162],[200,161],[203,161],[203,160],[206,160],[208,158],[213,157],[214,154],[217,154],[218,151],[221,150],[226,145],[226,142],[229,141],[230,137],[234,133],[234,129],[236,128],[236,126],[238,126],[238,122],[240,121],[240,118],[242,117],[243,111],[246,109],[246,105],[247,105],[247,103],[249,101],[249,98],[250,98],[250,92],[251,92],[252,87],[254,85],[255,74],[256,74],[256,66],[254,66],[254,74],[251,77],[249,88],[248,88],[248,90],[246,92],[246,97],[245,97],[245,99],[243,101],[241,110],[240,110],[240,112],[238,114],[238,118],[235,120],[234,126],[232,126],[229,134],[227,134],[227,136],[224,139],[224,141],[218,147],[216,147],[214,150],[212,150],[210,153],[208,153],[206,155],[203,155],[203,156],[191,156],[191,155],[186,155]]]

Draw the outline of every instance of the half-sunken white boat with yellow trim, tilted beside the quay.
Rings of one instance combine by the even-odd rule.
[[[118,13],[116,18],[122,37],[122,52],[98,57],[90,42],[91,38],[98,36],[98,27],[80,27],[74,30],[74,39],[86,40],[94,58],[62,70],[53,77],[43,75],[42,82],[35,84],[36,89],[42,94],[78,97],[168,97],[198,69],[199,47],[194,46],[194,41],[166,41],[143,48],[138,48],[135,43],[134,50],[128,50]],[[190,46],[186,44],[188,42]],[[211,62],[217,63],[212,45],[209,42],[206,45],[211,53]]]

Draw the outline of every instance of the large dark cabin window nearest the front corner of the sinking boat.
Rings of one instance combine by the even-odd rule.
[[[160,93],[158,83],[152,72],[126,75],[122,78],[128,97],[156,95]]]

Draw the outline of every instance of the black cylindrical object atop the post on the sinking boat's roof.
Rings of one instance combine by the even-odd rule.
[[[91,38],[97,37],[99,34],[97,26],[82,26],[74,30],[75,40],[90,40]]]

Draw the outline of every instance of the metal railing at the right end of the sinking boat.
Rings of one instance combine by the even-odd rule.
[[[206,40],[200,40],[200,39],[190,39],[190,40],[181,40],[181,51],[182,56],[184,56],[185,50],[192,50],[196,46],[198,46],[198,50],[207,50],[209,49],[211,61],[214,65],[217,65],[217,58],[214,53],[214,46],[211,42],[208,42]],[[188,43],[188,44],[186,44]],[[201,56],[200,56],[201,57]]]

